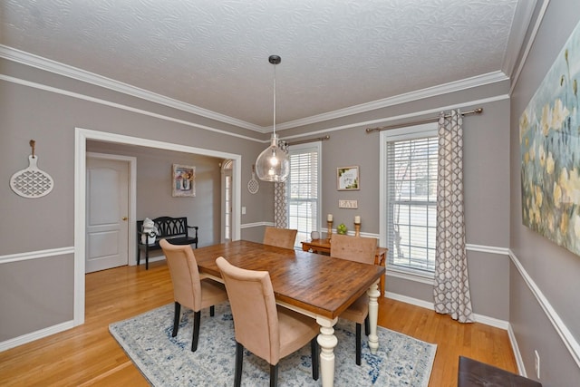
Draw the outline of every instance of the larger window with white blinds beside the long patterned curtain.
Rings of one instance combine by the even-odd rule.
[[[382,132],[382,241],[392,269],[435,270],[437,123]],[[384,232],[383,232],[384,230]]]

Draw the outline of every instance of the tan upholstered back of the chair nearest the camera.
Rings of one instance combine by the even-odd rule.
[[[280,359],[274,289],[267,271],[246,270],[220,256],[216,264],[226,284],[236,341],[270,364]]]

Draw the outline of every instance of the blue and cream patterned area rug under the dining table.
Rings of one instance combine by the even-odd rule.
[[[109,326],[140,372],[155,387],[232,386],[236,340],[228,304],[217,305],[216,314],[201,313],[198,350],[191,352],[193,313],[183,312],[179,333],[171,337],[173,304],[164,305]],[[362,364],[355,363],[354,324],[339,319],[335,325],[338,344],[334,348],[335,386],[427,387],[437,345],[378,327],[379,351],[372,354],[362,336]],[[268,385],[269,365],[245,352],[243,386]],[[316,386],[312,379],[310,345],[282,359],[278,365],[278,385]]]

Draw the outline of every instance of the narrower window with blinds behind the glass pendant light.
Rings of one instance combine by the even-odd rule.
[[[320,208],[320,142],[292,145],[289,148],[290,175],[286,180],[288,227],[298,230],[295,247],[318,230]]]

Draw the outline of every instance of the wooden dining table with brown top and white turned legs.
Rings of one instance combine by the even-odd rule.
[[[324,387],[333,386],[334,382],[334,347],[338,339],[333,326],[338,316],[364,293],[369,295],[369,347],[371,353],[377,352],[378,283],[384,266],[246,240],[200,247],[194,253],[200,275],[220,282],[223,280],[216,265],[218,256],[225,257],[234,266],[269,272],[276,304],[309,315],[320,324],[317,341],[321,348],[320,369]]]

